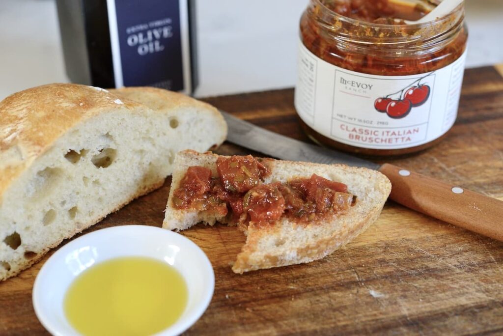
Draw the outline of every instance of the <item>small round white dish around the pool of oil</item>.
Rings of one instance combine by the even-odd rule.
[[[159,227],[124,225],[78,237],[47,260],[33,285],[33,307],[42,325],[54,335],[78,335],[63,311],[68,287],[93,265],[119,257],[149,257],[163,261],[177,269],[187,283],[189,298],[184,313],[175,324],[157,335],[182,333],[208,307],[215,276],[208,257],[199,246],[181,234]]]

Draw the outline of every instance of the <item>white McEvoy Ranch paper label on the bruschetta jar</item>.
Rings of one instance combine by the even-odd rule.
[[[445,134],[458,113],[466,51],[444,68],[380,76],[330,64],[299,45],[295,108],[318,133],[348,145],[400,149]]]

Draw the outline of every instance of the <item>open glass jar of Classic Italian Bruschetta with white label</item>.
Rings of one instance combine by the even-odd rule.
[[[316,142],[366,155],[438,143],[457,117],[468,37],[463,4],[406,25],[332,10],[348,1],[310,0],[301,17],[295,108],[303,129]],[[423,0],[399,3],[405,14],[433,8]]]

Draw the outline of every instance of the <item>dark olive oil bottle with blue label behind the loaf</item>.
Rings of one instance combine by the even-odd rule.
[[[194,0],[56,0],[56,4],[72,82],[194,92]]]

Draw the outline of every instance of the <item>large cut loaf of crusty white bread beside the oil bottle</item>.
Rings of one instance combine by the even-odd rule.
[[[0,102],[0,280],[222,143],[212,106],[153,88],[52,84]]]

